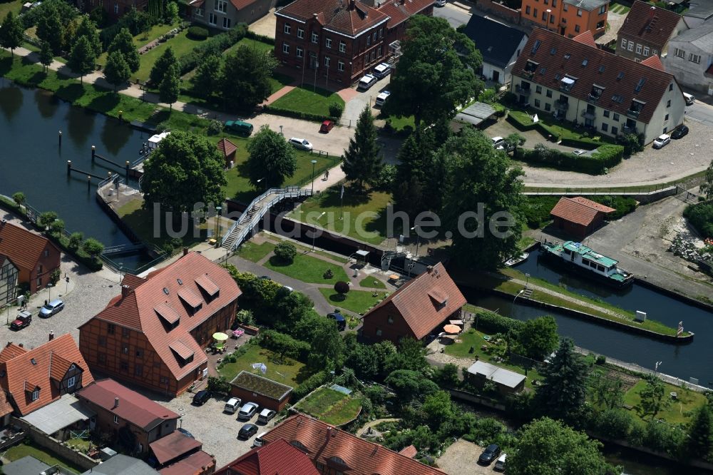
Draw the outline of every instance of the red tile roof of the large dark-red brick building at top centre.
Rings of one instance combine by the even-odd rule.
[[[359,36],[389,18],[358,0],[295,0],[275,15],[303,22],[317,16],[325,29],[347,36]]]

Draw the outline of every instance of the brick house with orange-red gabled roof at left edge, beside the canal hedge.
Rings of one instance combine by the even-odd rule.
[[[10,260],[17,269],[14,272],[9,265],[5,268],[0,264],[0,292],[3,288],[6,292],[6,300],[0,300],[0,303],[5,303],[17,296],[17,286],[21,283],[29,284],[32,293],[46,287],[53,270],[59,268],[61,252],[46,237],[1,220],[0,260]],[[15,275],[17,282],[13,284]]]

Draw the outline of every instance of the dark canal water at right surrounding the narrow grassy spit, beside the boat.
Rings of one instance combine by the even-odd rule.
[[[538,255],[536,250],[530,252],[528,260],[515,268],[555,285],[562,285],[571,292],[609,302],[632,312],[641,310],[647,313],[647,318],[658,320],[670,327],[676,327],[678,322],[682,321],[686,330],[695,333],[693,342],[670,344],[595,325],[558,312],[520,305],[518,302],[513,305],[509,299],[478,296],[474,292],[471,296],[473,300],[468,298],[468,301],[476,302],[477,305],[490,310],[499,310],[501,315],[520,320],[544,314],[553,315],[557,319],[560,334],[572,337],[579,347],[649,369],[655,369],[656,362],[662,362],[660,372],[685,380],[689,377],[697,378],[701,386],[708,386],[709,382],[713,384],[712,312],[636,284],[625,290],[612,290],[586,277],[578,277],[566,271],[560,272],[551,262],[538,259]]]

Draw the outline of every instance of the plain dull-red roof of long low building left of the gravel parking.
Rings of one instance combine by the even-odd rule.
[[[178,414],[166,409],[158,402],[128,389],[113,379],[101,379],[77,392],[77,396],[103,407],[136,427],[150,431],[163,422],[178,419]],[[118,406],[114,407],[116,398]]]

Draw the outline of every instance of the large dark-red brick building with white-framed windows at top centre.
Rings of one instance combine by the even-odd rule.
[[[430,0],[296,0],[275,11],[275,57],[308,83],[351,84],[399,51],[408,19]]]

